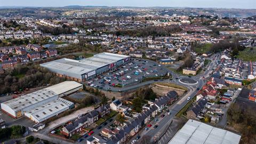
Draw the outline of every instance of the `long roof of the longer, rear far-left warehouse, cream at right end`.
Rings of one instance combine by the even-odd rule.
[[[16,99],[3,102],[3,105],[9,106],[13,111],[18,111],[20,109],[34,105],[38,102],[42,102],[52,97],[55,97],[64,92],[73,90],[79,86],[82,86],[82,84],[79,84],[74,81],[66,81],[50,87],[46,87],[45,89],[42,89],[42,90],[38,90],[32,93],[23,95]]]

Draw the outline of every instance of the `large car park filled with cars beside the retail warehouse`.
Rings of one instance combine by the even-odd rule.
[[[115,70],[98,76],[88,85],[98,89],[110,90],[111,87],[125,87],[142,82],[146,77],[159,77],[166,75],[167,71],[156,62],[132,59],[129,63]]]

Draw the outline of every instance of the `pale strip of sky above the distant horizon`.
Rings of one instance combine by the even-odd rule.
[[[169,6],[256,9],[256,0],[0,0],[0,6]]]

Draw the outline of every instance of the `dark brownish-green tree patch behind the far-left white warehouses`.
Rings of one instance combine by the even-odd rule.
[[[0,75],[0,94],[23,91],[47,84],[58,84],[65,78],[55,76],[39,65],[18,65],[13,70]]]

